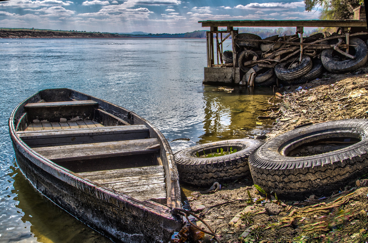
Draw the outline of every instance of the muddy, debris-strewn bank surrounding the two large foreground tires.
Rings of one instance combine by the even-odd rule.
[[[301,86],[279,89],[270,97],[262,119],[274,119],[266,140],[298,126],[368,117],[367,70],[333,75]],[[270,108],[271,107],[271,108]],[[368,182],[318,198],[277,200],[259,192],[251,180],[222,185],[215,193],[186,192],[187,206],[219,235],[219,242],[367,242]],[[197,190],[197,191],[196,191]],[[206,211],[208,210],[208,211]],[[206,228],[202,223],[198,223]]]

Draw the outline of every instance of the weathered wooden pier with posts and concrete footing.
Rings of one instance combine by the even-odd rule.
[[[234,36],[238,34],[238,30],[234,27],[296,27],[296,34],[300,34],[300,51],[303,48],[303,32],[304,27],[337,27],[341,33],[344,33],[348,43],[350,33],[367,32],[367,22],[359,19],[358,11],[361,15],[364,8],[354,10],[354,18],[348,20],[226,20],[226,21],[198,21],[202,23],[202,27],[210,27],[207,31],[207,67],[204,68],[204,84],[226,84],[241,85],[240,80],[244,75],[237,65],[237,48]],[[226,30],[218,30],[219,27],[226,27]],[[350,32],[348,31],[350,28]],[[227,34],[223,38],[223,34]],[[215,35],[215,40],[214,40]],[[231,36],[233,63],[225,64],[223,62],[223,41]],[[216,47],[214,44],[216,41]],[[216,53],[216,54],[215,54]],[[215,58],[216,57],[216,58]],[[215,59],[217,63],[215,64]]]

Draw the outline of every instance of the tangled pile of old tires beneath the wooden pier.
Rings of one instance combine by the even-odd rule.
[[[323,39],[323,37],[322,33],[317,33],[304,38],[303,43],[311,43]],[[249,63],[249,61],[261,59],[270,52],[290,47],[281,42],[300,42],[297,35],[283,37],[275,35],[263,39],[280,41],[280,43],[262,43],[260,40],[262,40],[261,37],[251,33],[240,33],[235,36],[237,65],[243,74],[247,73],[251,68],[254,69],[256,72],[254,84],[256,86],[272,86],[276,84],[277,79],[284,85],[303,84],[321,77],[325,69],[330,73],[354,72],[356,69],[364,66],[368,60],[367,44],[357,37],[351,37],[349,39],[349,44],[351,45],[349,54],[353,55],[354,59],[343,56],[333,50],[333,48],[322,51],[305,48],[301,62],[299,62],[299,55],[295,55],[287,61],[277,64],[275,68],[263,68],[258,64],[254,66],[244,65]],[[329,45],[336,43],[337,39],[319,42],[319,44]],[[232,56],[232,51],[224,51],[223,57],[226,63],[233,62]],[[283,57],[281,56],[280,58]]]

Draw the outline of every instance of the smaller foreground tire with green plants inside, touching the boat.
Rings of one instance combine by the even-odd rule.
[[[182,182],[194,186],[208,187],[214,182],[231,182],[239,178],[250,177],[248,156],[261,145],[256,139],[230,139],[210,142],[183,149],[175,153],[179,177]],[[216,152],[217,149],[232,146],[237,152],[212,158],[195,156]]]

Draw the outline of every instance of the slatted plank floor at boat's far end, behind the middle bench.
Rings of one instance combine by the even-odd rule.
[[[52,130],[52,129],[70,129],[70,128],[87,128],[87,127],[103,127],[102,124],[92,120],[66,121],[66,122],[33,122],[28,125],[24,131]]]

